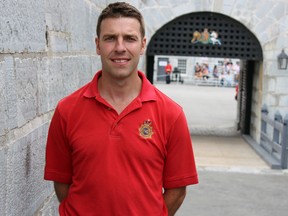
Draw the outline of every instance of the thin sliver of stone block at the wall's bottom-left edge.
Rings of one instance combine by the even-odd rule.
[[[4,215],[6,201],[7,149],[0,148],[0,215]]]

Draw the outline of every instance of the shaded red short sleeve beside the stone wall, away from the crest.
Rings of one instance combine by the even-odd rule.
[[[59,107],[55,109],[48,131],[44,179],[66,184],[72,181],[71,149]]]

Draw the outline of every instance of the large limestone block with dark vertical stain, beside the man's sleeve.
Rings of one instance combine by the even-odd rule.
[[[48,196],[43,181],[47,124],[10,144],[7,154],[7,215],[33,215]]]

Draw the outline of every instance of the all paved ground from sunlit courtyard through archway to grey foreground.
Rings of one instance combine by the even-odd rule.
[[[288,172],[270,169],[237,132],[234,88],[155,86],[183,107],[199,173],[177,216],[287,216]]]

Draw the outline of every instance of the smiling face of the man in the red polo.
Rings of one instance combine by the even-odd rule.
[[[127,17],[104,19],[99,38],[96,38],[103,74],[121,79],[137,73],[145,46],[146,38],[141,37],[138,20]]]

